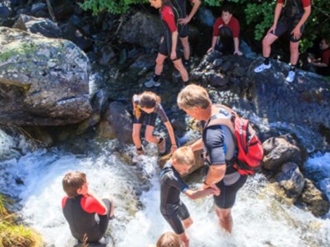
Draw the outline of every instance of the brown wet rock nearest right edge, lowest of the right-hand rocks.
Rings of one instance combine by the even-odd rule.
[[[299,200],[304,202],[307,205],[307,209],[316,216],[322,216],[329,212],[329,201],[326,200],[323,193],[309,179],[305,179],[305,187]]]

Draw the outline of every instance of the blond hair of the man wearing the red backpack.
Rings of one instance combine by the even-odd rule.
[[[177,95],[177,105],[180,109],[189,109],[194,106],[206,109],[212,104],[208,92],[202,86],[190,84]]]

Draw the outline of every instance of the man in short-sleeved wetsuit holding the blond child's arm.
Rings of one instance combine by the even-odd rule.
[[[181,90],[177,96],[177,104],[190,117],[206,122],[202,138],[190,145],[190,148],[194,151],[204,150],[204,159],[209,165],[209,170],[203,188],[212,187],[220,191],[219,196],[214,195],[215,212],[220,226],[231,233],[231,209],[236,200],[236,193],[244,185],[247,176],[242,176],[233,165],[230,165],[236,151],[230,128],[210,123],[214,119],[231,119],[232,115],[228,109],[212,105],[206,89],[195,84]]]

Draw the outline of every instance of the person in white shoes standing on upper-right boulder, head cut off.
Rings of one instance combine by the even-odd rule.
[[[283,18],[278,19],[283,12]],[[274,23],[268,30],[265,38],[263,38],[263,64],[254,69],[255,73],[260,73],[265,69],[270,69],[271,45],[278,37],[290,32],[290,69],[285,80],[293,82],[296,76],[296,64],[299,58],[299,42],[305,22],[311,14],[311,0],[277,0]]]

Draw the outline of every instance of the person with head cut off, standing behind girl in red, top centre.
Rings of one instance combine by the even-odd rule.
[[[179,12],[179,38],[181,40],[182,47],[184,48],[184,66],[189,67],[190,58],[190,46],[188,41],[188,23],[191,21],[192,17],[195,16],[199,5],[201,5],[201,0],[189,0],[193,4],[192,10],[187,15],[187,0],[172,0],[174,7]]]

